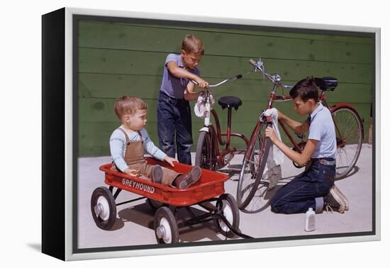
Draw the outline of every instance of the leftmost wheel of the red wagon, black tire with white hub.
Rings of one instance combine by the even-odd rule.
[[[110,230],[116,220],[116,203],[106,187],[96,188],[91,196],[91,213],[96,225],[103,230]]]

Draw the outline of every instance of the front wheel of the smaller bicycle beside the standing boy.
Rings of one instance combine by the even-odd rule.
[[[202,169],[216,170],[213,160],[212,139],[208,132],[201,132],[196,145],[195,165]]]

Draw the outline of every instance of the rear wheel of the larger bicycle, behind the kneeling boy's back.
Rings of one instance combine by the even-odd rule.
[[[335,122],[337,152],[336,177],[346,177],[355,167],[363,143],[363,123],[355,109],[336,108],[332,113]]]

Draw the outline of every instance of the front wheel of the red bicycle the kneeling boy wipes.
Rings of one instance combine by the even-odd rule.
[[[245,153],[237,186],[237,203],[240,209],[246,208],[250,203],[262,179],[271,146],[271,140],[265,137],[266,128],[267,124],[257,123]]]

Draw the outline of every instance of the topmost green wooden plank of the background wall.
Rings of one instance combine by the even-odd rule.
[[[79,46],[111,50],[179,52],[188,29],[144,28],[117,24],[80,23]],[[372,64],[372,45],[297,37],[217,33],[195,30],[203,40],[206,55],[277,58]],[[260,55],[261,53],[261,55]]]

